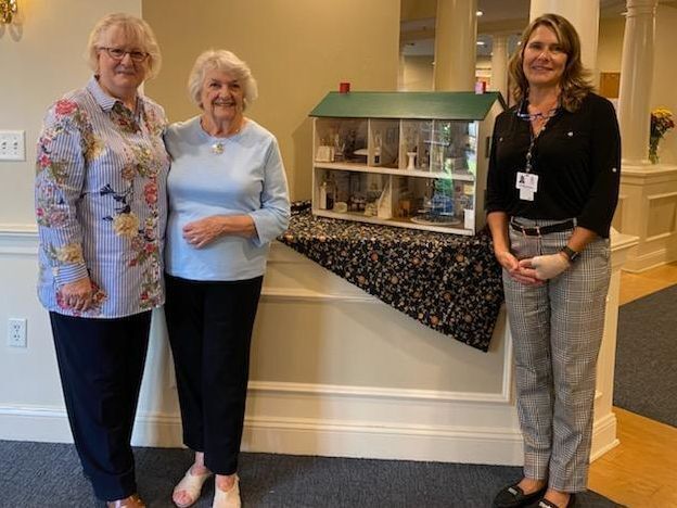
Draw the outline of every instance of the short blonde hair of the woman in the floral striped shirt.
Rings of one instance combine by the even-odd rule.
[[[90,68],[94,73],[99,71],[99,48],[101,48],[103,36],[114,26],[119,26],[130,43],[138,46],[140,50],[149,54],[145,61],[148,77],[157,76],[162,65],[162,55],[153,29],[143,20],[125,13],[108,14],[99,20],[99,23],[92,28],[85,52]]]

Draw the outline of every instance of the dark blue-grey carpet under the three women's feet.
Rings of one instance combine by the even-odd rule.
[[[170,493],[191,461],[186,449],[137,448],[139,492],[149,508],[173,507]],[[101,507],[73,445],[0,441],[0,507]],[[433,508],[491,506],[521,468],[460,463],[242,454],[243,506],[274,508]],[[194,506],[212,506],[214,483]],[[576,506],[615,503],[592,492]]]

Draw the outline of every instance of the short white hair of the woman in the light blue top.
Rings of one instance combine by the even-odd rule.
[[[188,76],[188,94],[197,107],[202,107],[201,96],[205,75],[207,71],[215,69],[228,73],[240,81],[245,109],[247,103],[256,100],[258,97],[258,87],[256,85],[256,79],[252,76],[250,66],[231,51],[210,49],[197,56]]]

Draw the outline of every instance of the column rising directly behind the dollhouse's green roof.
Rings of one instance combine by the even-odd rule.
[[[477,52],[477,0],[437,0],[434,89],[472,91]]]

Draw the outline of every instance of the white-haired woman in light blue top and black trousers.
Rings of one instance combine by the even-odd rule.
[[[199,116],[170,126],[165,314],[183,442],[195,460],[174,503],[192,505],[216,474],[214,507],[239,507],[252,328],[269,243],[290,204],[276,138],[244,116],[256,98],[248,66],[230,51],[202,53],[190,74]]]

